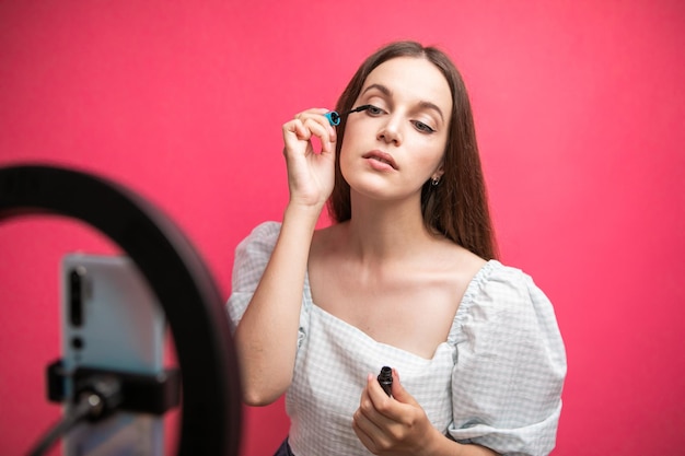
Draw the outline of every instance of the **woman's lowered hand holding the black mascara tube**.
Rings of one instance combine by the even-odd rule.
[[[369,375],[355,412],[352,428],[361,443],[374,455],[430,454],[437,437],[443,437],[426,412],[399,383],[393,370],[393,397],[388,397],[373,375]]]

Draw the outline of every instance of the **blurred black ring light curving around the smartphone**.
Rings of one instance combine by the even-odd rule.
[[[156,294],[183,377],[179,456],[239,454],[241,389],[228,314],[205,264],[152,204],[101,177],[49,165],[0,167],[0,223],[57,213],[100,230]]]

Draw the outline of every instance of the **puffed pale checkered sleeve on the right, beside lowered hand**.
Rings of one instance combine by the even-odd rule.
[[[564,342],[542,290],[497,265],[462,301],[448,433],[502,455],[547,455],[561,411]]]

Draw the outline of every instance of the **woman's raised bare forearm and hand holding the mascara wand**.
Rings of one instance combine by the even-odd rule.
[[[243,399],[274,402],[292,383],[309,254],[316,221],[333,191],[336,132],[307,109],[283,125],[290,202],[269,261],[235,330]],[[321,142],[321,151],[312,144]]]

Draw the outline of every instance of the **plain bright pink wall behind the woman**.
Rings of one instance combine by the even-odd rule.
[[[652,1],[0,2],[0,165],[113,178],[166,211],[224,296],[233,249],[287,199],[280,126],[415,38],[463,70],[503,260],[555,303],[559,456],[685,446],[685,8]],[[57,417],[57,261],[112,252],[56,217],[0,225],[0,454]],[[286,435],[246,410],[244,455]]]

